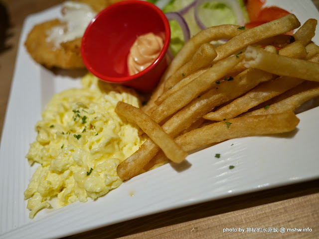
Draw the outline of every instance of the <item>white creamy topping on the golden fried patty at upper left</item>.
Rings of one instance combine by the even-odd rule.
[[[86,27],[97,14],[89,5],[75,1],[64,2],[61,12],[63,24],[52,27],[46,32],[48,35],[46,41],[53,42],[57,48],[62,42],[82,37]]]

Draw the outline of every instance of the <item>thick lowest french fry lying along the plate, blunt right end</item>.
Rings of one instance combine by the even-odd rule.
[[[298,123],[299,119],[291,111],[240,117],[192,130],[175,138],[175,142],[185,151],[190,151],[234,138],[290,132]]]

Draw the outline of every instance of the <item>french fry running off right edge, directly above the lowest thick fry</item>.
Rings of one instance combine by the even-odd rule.
[[[297,109],[299,109],[300,106],[302,106],[302,104],[318,96],[319,96],[319,87],[315,87],[306,91],[302,91],[298,94],[294,94],[275,104],[248,112],[242,115],[242,117],[251,116],[251,115],[275,114],[275,113],[281,113],[285,111],[295,112]]]

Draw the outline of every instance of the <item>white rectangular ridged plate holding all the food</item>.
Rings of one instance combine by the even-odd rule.
[[[297,15],[319,20],[311,0],[268,0]],[[283,136],[223,142],[139,175],[96,201],[42,210],[28,219],[23,192],[36,165],[25,155],[34,125],[56,92],[78,87],[79,79],[54,75],[29,57],[23,43],[34,24],[59,16],[60,6],[29,16],[23,26],[0,146],[0,239],[60,238],[121,221],[209,200],[319,177],[319,108],[298,114],[298,130]],[[315,42],[319,43],[319,31]],[[219,159],[215,154],[221,155]],[[229,165],[235,165],[230,170]]]

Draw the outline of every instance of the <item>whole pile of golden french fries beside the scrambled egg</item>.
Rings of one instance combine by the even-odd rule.
[[[294,14],[252,29],[207,28],[172,60],[142,109],[119,102],[116,112],[149,137],[119,164],[128,180],[158,163],[228,139],[293,131],[296,110],[319,96],[317,20]],[[286,35],[299,28],[293,36]],[[216,48],[213,40],[228,39]]]

